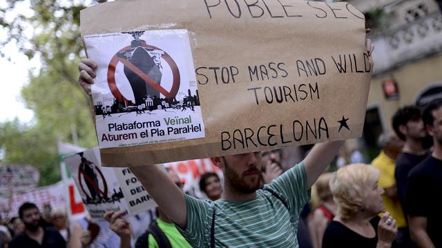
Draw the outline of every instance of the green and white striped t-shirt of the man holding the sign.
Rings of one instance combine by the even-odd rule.
[[[310,199],[304,164],[289,169],[266,187],[285,200],[288,209],[271,192],[261,189],[253,200],[241,202],[185,195],[187,226],[177,229],[192,247],[210,247],[215,208],[216,247],[298,247],[298,218]]]

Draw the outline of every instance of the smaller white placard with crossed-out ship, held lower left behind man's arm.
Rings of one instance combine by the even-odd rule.
[[[106,211],[125,209],[134,215],[156,206],[146,189],[126,167],[101,166],[98,147],[64,158],[86,209],[94,220]]]

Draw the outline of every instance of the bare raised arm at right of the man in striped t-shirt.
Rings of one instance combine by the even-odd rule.
[[[307,176],[307,188],[313,185],[324,169],[333,161],[338,154],[339,148],[344,141],[332,141],[316,144],[304,159],[305,174]]]

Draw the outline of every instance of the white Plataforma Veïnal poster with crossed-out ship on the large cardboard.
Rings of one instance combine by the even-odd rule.
[[[100,148],[204,138],[187,30],[84,37]]]

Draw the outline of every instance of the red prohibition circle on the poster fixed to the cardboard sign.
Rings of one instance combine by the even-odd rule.
[[[144,41],[142,41],[142,47],[155,49],[155,50],[161,50],[160,48],[157,48],[153,45],[146,44],[146,42],[144,42]],[[130,70],[132,70],[138,76],[140,76],[148,85],[151,85],[155,90],[157,90],[158,92],[163,94],[164,97],[166,97],[166,99],[172,99],[173,97],[175,97],[178,93],[178,90],[180,89],[180,71],[178,70],[177,64],[175,63],[175,61],[173,61],[172,57],[167,52],[164,52],[163,50],[161,50],[164,52],[164,54],[162,55],[162,59],[164,59],[164,61],[166,61],[166,63],[169,64],[169,67],[171,68],[172,75],[173,75],[172,88],[171,88],[171,91],[169,92],[169,91],[165,90],[164,87],[162,87],[160,85],[160,83],[153,81],[153,79],[151,79],[150,76],[144,74],[144,72],[142,72],[142,70],[137,68],[130,61],[128,61],[127,59],[119,58],[117,56],[117,54],[119,52],[124,52],[126,50],[131,49],[131,48],[132,47],[130,45],[128,45],[128,46],[122,48],[122,50],[119,50],[112,57],[111,61],[109,62],[109,65],[108,65],[108,85],[109,85],[109,89],[111,89],[111,92],[112,92],[113,96],[115,97],[115,99],[119,99],[119,101],[125,101],[126,104],[128,104],[128,100],[126,99],[126,97],[124,97],[122,95],[121,92],[119,92],[119,89],[117,87],[117,83],[115,82],[115,69],[117,68],[118,62],[121,62],[124,65],[126,65],[126,67],[128,67]]]

